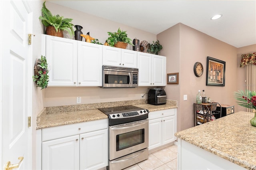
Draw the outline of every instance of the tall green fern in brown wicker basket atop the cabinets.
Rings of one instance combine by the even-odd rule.
[[[45,2],[42,7],[42,16],[39,17],[42,20],[42,24],[46,26],[46,34],[51,36],[63,37],[63,30],[66,30],[70,36],[74,36],[74,29],[71,18],[64,18],[63,16],[53,16],[50,10],[45,6]]]

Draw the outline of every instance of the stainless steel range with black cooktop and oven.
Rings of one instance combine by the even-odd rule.
[[[148,159],[149,111],[131,105],[99,110],[108,115],[108,168],[121,170]]]

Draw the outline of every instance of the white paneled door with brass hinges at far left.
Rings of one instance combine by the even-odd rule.
[[[1,10],[1,109],[0,168],[20,162],[20,170],[31,169],[32,12],[28,1],[0,2]],[[20,157],[20,159],[18,159]],[[21,158],[24,158],[23,160]]]

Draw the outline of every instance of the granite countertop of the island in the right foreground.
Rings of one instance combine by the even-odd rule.
[[[249,170],[256,170],[254,113],[237,112],[177,132],[175,136]]]

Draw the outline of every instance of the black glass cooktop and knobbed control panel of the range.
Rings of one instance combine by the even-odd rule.
[[[132,105],[99,108],[98,110],[108,115],[110,126],[144,120],[148,118],[149,113],[147,109]]]

